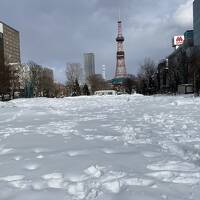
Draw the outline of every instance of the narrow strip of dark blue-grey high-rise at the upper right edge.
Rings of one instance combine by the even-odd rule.
[[[200,46],[200,0],[193,3],[194,45]]]

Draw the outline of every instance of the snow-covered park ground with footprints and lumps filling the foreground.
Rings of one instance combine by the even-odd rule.
[[[200,98],[0,102],[0,200],[200,199]]]

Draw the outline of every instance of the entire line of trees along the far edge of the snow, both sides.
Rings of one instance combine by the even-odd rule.
[[[187,79],[193,84],[195,92],[199,94],[200,57],[197,55],[200,54],[193,52],[187,58],[189,66]],[[174,69],[171,71],[174,72]],[[173,92],[176,92],[178,84],[180,84],[180,73],[177,71],[176,76],[174,74],[169,76],[169,86],[173,89]],[[1,66],[0,70],[0,96],[4,98],[4,95],[9,94],[12,99],[16,92],[20,92],[22,97],[79,96],[90,95],[97,90],[112,89],[111,83],[104,80],[101,75],[95,74],[88,77],[85,84],[81,80],[82,76],[80,64],[68,64],[66,68],[67,82],[66,85],[62,85],[54,83],[51,69],[43,68],[33,61],[23,65],[5,64],[4,67]],[[160,77],[161,74],[156,63],[150,58],[145,58],[140,65],[138,74],[127,78],[126,92],[131,94],[134,90],[146,95],[159,93],[161,92]],[[166,80],[163,80],[163,82],[166,82]]]

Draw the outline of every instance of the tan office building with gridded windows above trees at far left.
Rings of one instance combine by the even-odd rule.
[[[19,31],[0,21],[1,59],[6,63],[20,63]]]

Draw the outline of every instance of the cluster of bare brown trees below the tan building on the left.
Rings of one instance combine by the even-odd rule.
[[[30,61],[27,64],[0,66],[0,96],[2,100],[15,97],[53,97],[64,95],[66,88],[54,83],[53,70]]]

